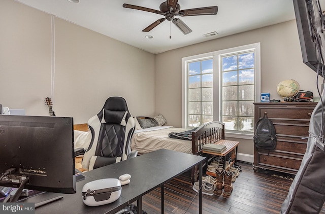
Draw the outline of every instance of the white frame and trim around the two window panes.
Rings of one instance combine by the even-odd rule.
[[[220,121],[221,118],[221,56],[228,54],[235,54],[243,51],[255,51],[255,102],[261,101],[261,43],[254,43],[250,45],[244,45],[235,48],[229,48],[210,53],[204,53],[194,56],[188,56],[182,58],[182,127],[187,127],[187,110],[188,110],[188,72],[187,64],[192,61],[205,60],[213,58],[213,120]],[[218,114],[215,114],[218,113]],[[226,137],[252,139],[253,133],[245,133],[241,131],[225,131]]]

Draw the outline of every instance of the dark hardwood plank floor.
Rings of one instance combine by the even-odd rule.
[[[252,164],[238,164],[242,166],[242,172],[232,183],[232,194],[203,195],[203,213],[280,213],[281,204],[292,183],[290,175],[263,169],[254,172]],[[157,188],[143,197],[143,210],[148,214],[161,213],[160,191]],[[192,190],[189,173],[165,184],[165,213],[199,213],[199,195],[196,196]],[[325,213],[324,207],[321,213]]]

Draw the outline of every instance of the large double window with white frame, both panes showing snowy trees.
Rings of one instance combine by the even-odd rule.
[[[218,120],[226,136],[251,139],[253,102],[261,100],[260,44],[186,57],[182,69],[182,126]]]

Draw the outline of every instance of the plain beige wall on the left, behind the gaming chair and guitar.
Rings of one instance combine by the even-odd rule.
[[[51,15],[13,0],[0,1],[0,104],[86,123],[110,96],[122,96],[132,115],[154,115],[154,55],[54,18],[55,76],[51,79]]]

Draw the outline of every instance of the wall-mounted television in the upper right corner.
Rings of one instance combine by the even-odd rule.
[[[323,76],[324,16],[319,0],[293,0],[303,62]]]

